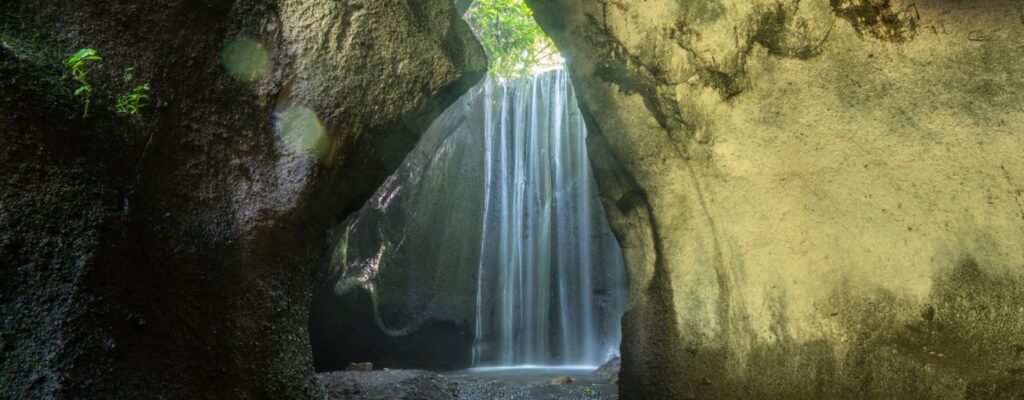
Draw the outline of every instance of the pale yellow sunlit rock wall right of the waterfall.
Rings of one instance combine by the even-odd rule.
[[[529,3],[630,272],[624,397],[1021,393],[1019,3]]]

